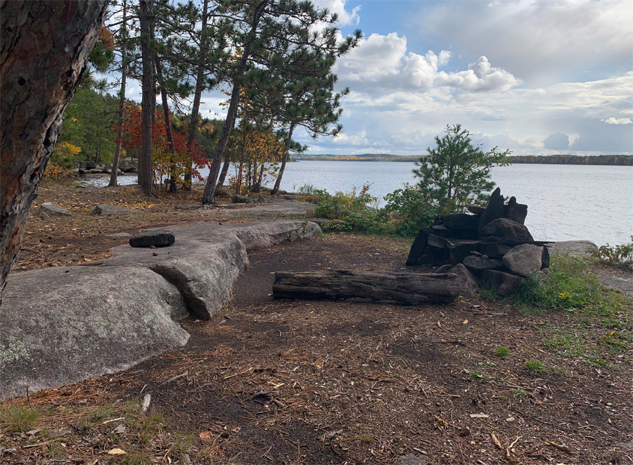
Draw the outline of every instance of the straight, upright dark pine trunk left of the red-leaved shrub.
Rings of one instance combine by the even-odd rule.
[[[139,1],[139,19],[141,22],[141,59],[143,60],[143,76],[141,81],[141,153],[139,153],[139,186],[148,196],[154,193],[154,176],[152,169],[152,125],[153,118],[153,52],[151,50],[151,25],[148,0]]]

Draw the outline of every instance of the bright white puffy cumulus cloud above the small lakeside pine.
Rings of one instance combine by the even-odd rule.
[[[520,79],[495,68],[485,57],[468,65],[467,70],[446,72],[452,53],[447,50],[425,55],[407,53],[407,38],[395,32],[371,34],[357,49],[341,58],[336,72],[340,81],[352,89],[373,93],[394,89],[428,90],[449,87],[464,91],[506,91],[520,84]]]

